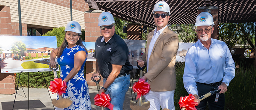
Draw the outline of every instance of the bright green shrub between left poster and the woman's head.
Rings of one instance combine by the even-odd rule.
[[[60,47],[60,45],[62,44],[62,42],[64,40],[64,36],[65,36],[64,29],[65,29],[65,26],[60,27],[60,28],[54,27],[52,30],[48,31],[46,34],[43,34],[42,36],[56,36],[57,47]]]

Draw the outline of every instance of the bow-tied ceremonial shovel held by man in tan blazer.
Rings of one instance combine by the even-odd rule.
[[[137,66],[138,66],[138,64],[137,64]],[[145,68],[145,66],[143,66],[143,67],[138,66],[138,68],[140,69],[140,78],[141,78],[143,76],[143,69]],[[150,102],[147,101],[147,102],[143,103],[142,98],[141,98],[142,95],[145,95],[149,92],[150,85],[148,83],[145,83],[146,85],[143,86],[143,87],[145,87],[143,89],[142,88],[134,88],[134,87],[136,87],[136,85],[143,85],[143,83],[145,83],[145,80],[139,79],[138,83],[136,82],[133,85],[133,91],[138,93],[137,98],[140,95],[139,93],[144,92],[144,94],[140,95],[140,98],[138,99],[138,103],[134,102],[133,100],[130,101],[131,110],[148,110],[150,108]],[[144,90],[146,90],[147,92],[145,93]]]

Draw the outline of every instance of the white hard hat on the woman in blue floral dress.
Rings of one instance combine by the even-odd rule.
[[[65,32],[66,31],[71,31],[71,32],[75,32],[75,33],[78,33],[79,35],[82,34],[81,32],[81,26],[78,22],[76,21],[70,21],[69,23],[67,23],[67,26],[64,30]]]

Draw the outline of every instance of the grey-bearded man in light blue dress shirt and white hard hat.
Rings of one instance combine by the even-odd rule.
[[[228,46],[220,40],[211,38],[214,30],[213,17],[208,12],[201,12],[196,18],[198,41],[186,54],[183,75],[184,87],[195,96],[199,103],[197,110],[205,110],[207,103],[210,110],[224,110],[225,95],[230,81],[235,77],[235,63]],[[219,94],[197,100],[199,96],[221,89]]]

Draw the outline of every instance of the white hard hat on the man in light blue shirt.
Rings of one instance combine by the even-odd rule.
[[[196,23],[194,26],[210,26],[214,25],[213,16],[208,12],[201,12],[196,17]]]

